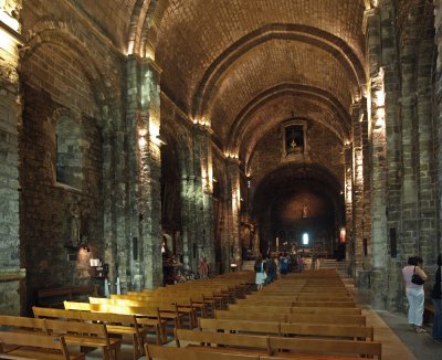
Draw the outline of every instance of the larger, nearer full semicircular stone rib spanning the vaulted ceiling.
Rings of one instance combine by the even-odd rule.
[[[201,117],[206,113],[214,84],[229,66],[241,55],[263,42],[284,39],[301,41],[318,46],[336,57],[354,80],[354,95],[360,97],[359,89],[366,82],[366,70],[351,47],[341,39],[307,25],[269,24],[243,36],[228,47],[206,71],[193,96],[192,116]]]

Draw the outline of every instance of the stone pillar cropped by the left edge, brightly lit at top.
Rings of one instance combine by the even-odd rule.
[[[25,269],[20,267],[25,258],[19,237],[20,10],[21,0],[0,2],[0,314],[4,315],[25,309],[24,295],[20,296],[25,294]]]

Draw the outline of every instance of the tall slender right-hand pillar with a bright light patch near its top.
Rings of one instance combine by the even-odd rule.
[[[381,15],[379,9],[370,10],[367,21],[368,64],[370,71],[370,137],[371,137],[371,305],[386,308],[387,284],[387,148],[383,70],[381,67]],[[382,19],[383,21],[383,19]]]

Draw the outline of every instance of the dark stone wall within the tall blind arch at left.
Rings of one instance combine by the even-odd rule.
[[[105,38],[94,32],[94,24],[75,12],[66,18],[70,10],[63,1],[32,1],[22,12],[28,38],[20,74],[20,237],[23,266],[29,269],[28,305],[36,288],[96,282],[88,260],[107,261],[105,218],[112,209],[104,202],[109,195],[104,183],[114,181],[105,171],[114,166],[106,144],[122,120],[122,63]],[[74,188],[56,181],[56,124],[62,117],[82,134],[69,144],[71,151],[83,152],[81,163],[75,163],[82,180]],[[80,235],[91,252],[71,239],[72,204],[80,207]]]

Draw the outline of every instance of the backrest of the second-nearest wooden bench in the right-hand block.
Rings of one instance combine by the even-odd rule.
[[[381,360],[381,343],[376,341],[352,341],[335,339],[286,338],[272,336],[232,335],[213,331],[177,330],[177,346],[182,341],[196,342],[191,346],[201,351],[276,354],[284,358],[306,359],[358,359],[358,357],[377,357]],[[213,348],[207,343],[222,346]],[[287,352],[288,351],[288,352]],[[329,357],[333,356],[333,357]],[[210,357],[208,357],[210,358]]]

